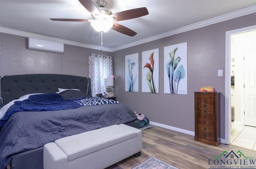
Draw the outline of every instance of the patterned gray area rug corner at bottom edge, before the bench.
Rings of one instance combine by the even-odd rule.
[[[140,163],[132,169],[179,169],[169,163],[166,163],[154,156],[146,159],[144,162]]]

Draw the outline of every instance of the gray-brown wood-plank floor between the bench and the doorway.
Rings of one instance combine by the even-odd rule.
[[[131,169],[151,156],[180,169],[209,169],[209,163],[214,160],[212,157],[220,156],[225,150],[241,151],[246,157],[256,159],[256,151],[226,144],[207,145],[194,141],[194,136],[158,126],[142,131],[142,141],[140,157],[128,157],[106,169]]]

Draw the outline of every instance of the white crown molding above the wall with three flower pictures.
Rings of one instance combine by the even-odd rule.
[[[193,29],[202,28],[204,26],[209,26],[209,25],[212,25],[212,24],[216,24],[216,23],[219,23],[219,22],[223,22],[223,21],[226,21],[226,20],[233,19],[233,18],[238,18],[240,16],[245,16],[245,15],[252,14],[252,13],[255,13],[255,12],[256,12],[256,6],[251,6],[251,7],[248,7],[248,8],[244,8],[242,10],[237,10],[235,12],[231,12],[231,13],[228,13],[228,14],[224,14],[224,15],[221,15],[221,16],[217,16],[217,17],[208,19],[208,20],[204,20],[204,21],[198,22],[196,24],[191,24],[191,25],[188,25],[188,26],[184,26],[182,28],[174,29],[172,31],[168,31],[168,32],[165,32],[165,33],[161,33],[161,34],[152,36],[152,37],[148,37],[146,39],[141,39],[139,41],[135,41],[135,42],[132,42],[132,43],[128,43],[126,45],[115,47],[115,48],[111,49],[111,52],[118,51],[118,50],[125,49],[125,48],[132,47],[132,46],[136,46],[136,45],[140,45],[142,43],[147,43],[147,42],[154,41],[154,40],[157,40],[157,39],[162,39],[164,37],[168,37],[168,36],[171,36],[171,35],[176,35],[178,33],[190,31],[190,30],[193,30]]]

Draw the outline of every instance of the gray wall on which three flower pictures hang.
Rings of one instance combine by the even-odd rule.
[[[225,138],[225,75],[226,31],[256,25],[256,14],[194,29],[156,41],[112,53],[114,58],[114,91],[120,102],[133,111],[144,114],[150,121],[194,132],[194,92],[201,86],[214,86],[221,92],[221,138]],[[188,94],[164,94],[164,47],[188,44]],[[159,48],[159,94],[141,92],[142,51]],[[139,53],[139,92],[125,92],[125,55]]]

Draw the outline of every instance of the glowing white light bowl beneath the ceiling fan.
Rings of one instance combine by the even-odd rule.
[[[99,32],[106,32],[113,27],[113,22],[104,18],[94,20],[91,22],[91,26]]]

